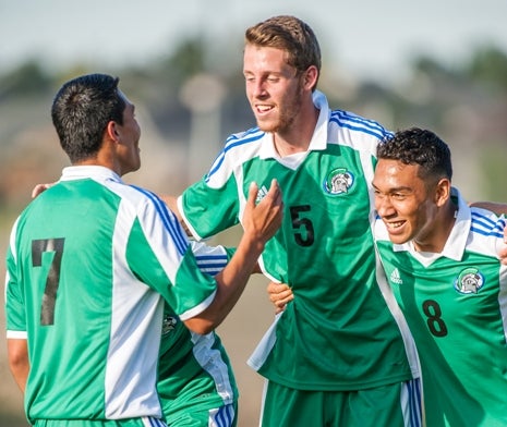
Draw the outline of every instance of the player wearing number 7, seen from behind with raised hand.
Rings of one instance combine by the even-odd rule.
[[[118,82],[89,74],[60,88],[51,117],[72,166],[11,232],[8,356],[35,427],[165,426],[165,302],[191,331],[212,332],[281,222],[276,181],[261,204],[252,184],[233,256],[215,277],[201,272],[162,200],[122,181],[141,167],[141,127]]]

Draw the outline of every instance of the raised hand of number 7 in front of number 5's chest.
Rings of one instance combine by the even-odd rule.
[[[245,234],[250,234],[253,240],[264,245],[281,225],[283,202],[276,180],[271,181],[269,192],[255,205],[257,193],[257,184],[252,183],[249,188],[242,224]]]

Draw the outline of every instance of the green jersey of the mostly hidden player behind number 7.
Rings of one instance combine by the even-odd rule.
[[[231,254],[191,242],[201,271],[215,276]],[[165,305],[157,389],[169,425],[185,412],[209,411],[238,401],[238,388],[220,338],[190,331]],[[224,424],[226,425],[226,424]],[[230,425],[230,424],[227,424]]]

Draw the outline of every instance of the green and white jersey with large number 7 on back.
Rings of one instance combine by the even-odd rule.
[[[101,167],[65,168],[32,202],[8,251],[8,338],[26,338],[34,419],[161,415],[164,295],[184,320],[213,301],[176,217]]]

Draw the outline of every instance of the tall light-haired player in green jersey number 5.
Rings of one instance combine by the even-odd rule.
[[[246,29],[243,74],[257,127],[231,135],[205,178],[168,204],[196,239],[241,221],[276,178],[286,215],[261,258],[294,301],[250,364],[266,379],[263,427],[419,426],[419,365],[394,298],[379,289],[371,181],[378,123],[331,110],[321,51],[293,16]],[[173,210],[174,210],[173,209]]]

